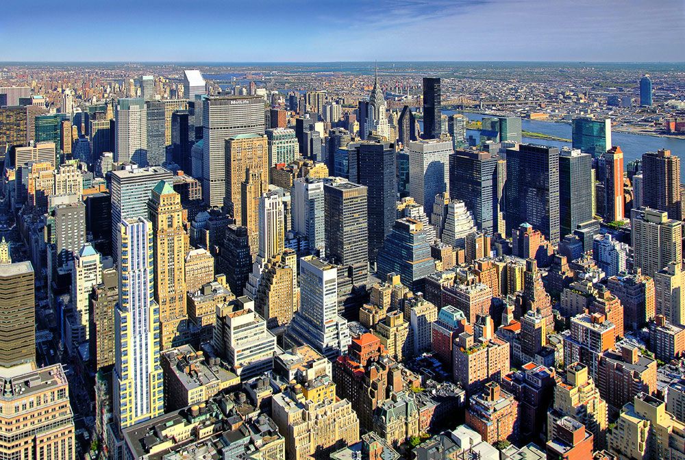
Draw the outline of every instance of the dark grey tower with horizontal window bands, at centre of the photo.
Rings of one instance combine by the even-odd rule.
[[[348,268],[352,283],[366,284],[369,261],[367,188],[349,181],[323,186],[326,256]]]

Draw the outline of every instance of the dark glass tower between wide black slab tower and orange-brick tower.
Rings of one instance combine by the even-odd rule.
[[[559,153],[560,235],[593,218],[593,158],[578,149],[564,147]]]

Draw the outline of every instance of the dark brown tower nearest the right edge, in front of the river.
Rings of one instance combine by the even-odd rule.
[[[643,154],[642,205],[666,211],[669,219],[682,219],[680,157],[670,150]]]

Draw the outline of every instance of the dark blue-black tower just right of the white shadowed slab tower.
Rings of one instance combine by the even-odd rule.
[[[449,155],[450,198],[466,203],[476,227],[486,235],[498,232],[499,161],[497,155],[474,150],[458,150]]]

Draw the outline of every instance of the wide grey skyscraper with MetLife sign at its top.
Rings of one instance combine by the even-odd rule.
[[[229,186],[226,181],[229,174],[226,140],[243,135],[264,135],[264,99],[256,96],[210,96],[203,101],[203,109],[202,199],[210,206],[221,206]],[[263,153],[264,181],[267,181],[269,158],[266,139]],[[245,180],[245,170],[239,177],[234,177],[238,180],[238,190],[240,182]],[[231,201],[236,203],[234,199],[232,196]]]

